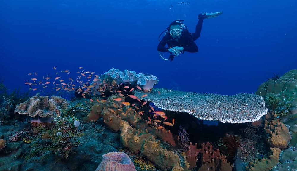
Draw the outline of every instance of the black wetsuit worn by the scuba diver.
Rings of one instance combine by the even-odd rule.
[[[169,48],[178,46],[183,47],[184,51],[187,52],[198,52],[198,47],[194,41],[200,37],[203,19],[204,18],[198,20],[195,33],[189,33],[187,30],[184,30],[178,41],[173,39],[170,33],[166,33],[162,38],[162,41],[159,43],[157,50],[160,52],[168,52]],[[165,47],[166,44],[168,47]]]

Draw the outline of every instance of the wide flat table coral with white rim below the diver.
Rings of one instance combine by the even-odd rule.
[[[200,120],[218,120],[228,123],[254,122],[267,114],[264,100],[255,94],[200,94],[165,88],[154,88],[152,93],[136,92],[140,100],[151,101],[157,107],[187,112]]]

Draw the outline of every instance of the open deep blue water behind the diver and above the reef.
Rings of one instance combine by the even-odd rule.
[[[158,36],[175,19],[195,31],[203,21],[198,53],[173,62],[159,57]],[[78,67],[149,73],[157,87],[199,93],[254,93],[273,76],[297,67],[296,0],[40,1],[0,2],[1,77],[10,88]],[[165,57],[169,54],[163,53]],[[69,75],[71,75],[69,74]]]

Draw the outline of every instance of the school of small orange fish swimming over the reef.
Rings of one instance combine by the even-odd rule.
[[[53,68],[54,68],[54,70],[56,70],[56,67],[53,67]],[[83,69],[83,67],[79,67],[78,69]],[[64,70],[64,71],[61,71],[61,72],[66,73],[66,74],[71,73],[69,70]],[[48,87],[48,84],[52,83],[55,86],[53,88],[53,90],[55,90],[55,91],[59,91],[59,90],[67,91],[67,92],[76,91],[78,94],[81,94],[83,96],[83,98],[86,98],[85,95],[91,93],[90,88],[94,88],[94,84],[90,85],[89,83],[92,83],[93,81],[95,82],[95,81],[100,80],[99,76],[94,75],[93,78],[92,78],[92,75],[95,72],[90,72],[90,71],[85,71],[85,70],[82,70],[80,72],[77,71],[76,73],[79,74],[77,76],[77,78],[76,78],[76,83],[73,81],[74,79],[71,78],[71,77],[69,77],[69,79],[67,79],[67,81],[64,81],[64,80],[62,80],[61,76],[56,76],[55,78],[51,79],[51,77],[49,77],[47,75],[46,77],[43,76],[42,80],[37,80],[37,78],[31,78],[33,83],[27,81],[25,84],[30,86],[29,90],[33,90],[33,91],[38,90],[38,88],[35,88],[34,86],[36,86],[36,85],[41,86],[42,89],[43,89],[42,92],[44,93],[45,88]],[[58,75],[58,74],[59,74],[59,72],[56,72],[56,75]],[[32,75],[32,73],[29,73],[28,75]],[[35,75],[37,76],[37,72],[35,72]],[[52,82],[51,82],[51,80],[52,80]],[[78,84],[78,85],[76,85],[76,84]],[[122,84],[123,83],[121,83],[120,85],[122,85]],[[120,85],[117,85],[117,88],[120,88]],[[137,101],[141,102],[140,99],[138,99],[138,97],[136,97],[134,95],[125,94],[126,95],[125,96],[124,94],[122,94],[123,93],[122,91],[115,90],[116,88],[114,87],[114,85],[108,86],[107,83],[105,83],[105,80],[103,80],[102,83],[100,83],[99,88],[97,88],[97,91],[102,94],[102,97],[105,97],[104,91],[106,90],[106,88],[109,88],[109,91],[111,93],[118,93],[120,96],[130,97],[132,99],[136,99]],[[128,89],[130,87],[129,86],[124,86],[123,88],[124,88],[124,92],[127,92],[126,89]],[[136,86],[136,88],[139,89],[140,91],[142,91],[142,89],[139,86]],[[133,90],[134,90],[134,88],[130,88],[129,92],[132,92]],[[160,92],[158,92],[158,93],[160,94]],[[145,96],[147,96],[147,94],[144,94],[141,97],[145,97]],[[89,99],[89,100],[91,102],[94,102],[93,99]],[[129,102],[123,101],[123,98],[115,98],[113,100],[118,101],[118,102],[122,101],[121,104],[123,104],[126,107],[129,107],[129,109],[127,111],[132,110],[131,107],[133,107],[135,110],[138,111],[139,115],[143,115],[144,111],[140,111],[140,109],[135,105],[135,103],[131,105]],[[98,99],[96,99],[96,101],[100,102]],[[104,102],[104,101],[107,101],[107,100],[101,100],[101,102]],[[87,100],[85,101],[85,103],[87,103]],[[140,105],[140,107],[143,107],[146,103],[147,103],[147,101],[144,101]],[[116,104],[114,104],[114,107],[118,108],[118,110],[121,112],[122,111],[121,107],[123,107],[123,106],[120,105],[118,107]],[[162,112],[162,111],[155,111],[154,108],[151,105],[149,105],[149,107],[151,108],[151,109],[149,109],[149,112],[152,114],[151,115],[152,118],[151,117],[147,118],[148,124],[154,126],[156,129],[162,129],[162,128],[164,128],[164,125],[167,125],[167,126],[173,126],[174,125],[174,119],[172,120],[172,123],[162,122],[161,120],[163,120],[163,121],[167,120],[166,114],[164,112]],[[110,109],[110,111],[116,114],[116,112],[113,109]],[[126,113],[121,112],[121,114],[126,116],[127,112]],[[119,114],[118,114],[118,117],[120,117]]]

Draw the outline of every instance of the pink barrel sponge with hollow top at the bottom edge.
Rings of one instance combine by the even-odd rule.
[[[130,157],[124,152],[110,152],[102,157],[96,171],[136,171]]]

